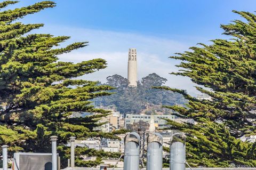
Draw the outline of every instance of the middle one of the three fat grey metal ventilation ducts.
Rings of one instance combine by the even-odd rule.
[[[162,170],[163,137],[159,133],[149,134],[147,139],[147,170]]]

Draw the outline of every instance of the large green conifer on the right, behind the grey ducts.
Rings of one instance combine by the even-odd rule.
[[[201,86],[197,90],[212,100],[198,100],[185,91],[162,87],[188,100],[185,108],[168,108],[197,122],[191,125],[169,120],[173,129],[187,134],[187,159],[193,166],[256,166],[255,143],[239,139],[256,132],[256,15],[234,12],[247,22],[221,25],[232,39],[214,39],[211,45],[199,44],[201,47],[170,57],[182,61],[178,65],[182,70],[171,74],[189,77]]]

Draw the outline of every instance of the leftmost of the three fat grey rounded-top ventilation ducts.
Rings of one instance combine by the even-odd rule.
[[[132,132],[124,137],[124,170],[139,170],[140,135]]]

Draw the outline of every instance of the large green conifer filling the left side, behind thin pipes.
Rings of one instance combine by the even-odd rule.
[[[0,7],[15,3],[17,1],[4,1]],[[61,156],[65,156],[63,145],[70,136],[76,136],[77,139],[94,136],[117,138],[112,133],[93,131],[107,111],[94,109],[89,101],[109,95],[106,91],[113,88],[98,85],[98,82],[75,79],[106,68],[106,61],[59,61],[58,55],[85,47],[87,42],[57,48],[69,37],[29,34],[29,31],[43,25],[15,22],[27,14],[54,6],[54,2],[43,1],[0,12],[0,142],[10,145],[10,155],[15,151],[50,152],[51,135],[59,137],[58,152]],[[74,112],[102,114],[75,118],[71,117]],[[81,161],[77,161],[77,164],[87,165]]]

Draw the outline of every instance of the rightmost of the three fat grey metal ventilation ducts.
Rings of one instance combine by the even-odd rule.
[[[174,133],[170,143],[170,170],[186,169],[186,138],[182,133]]]

